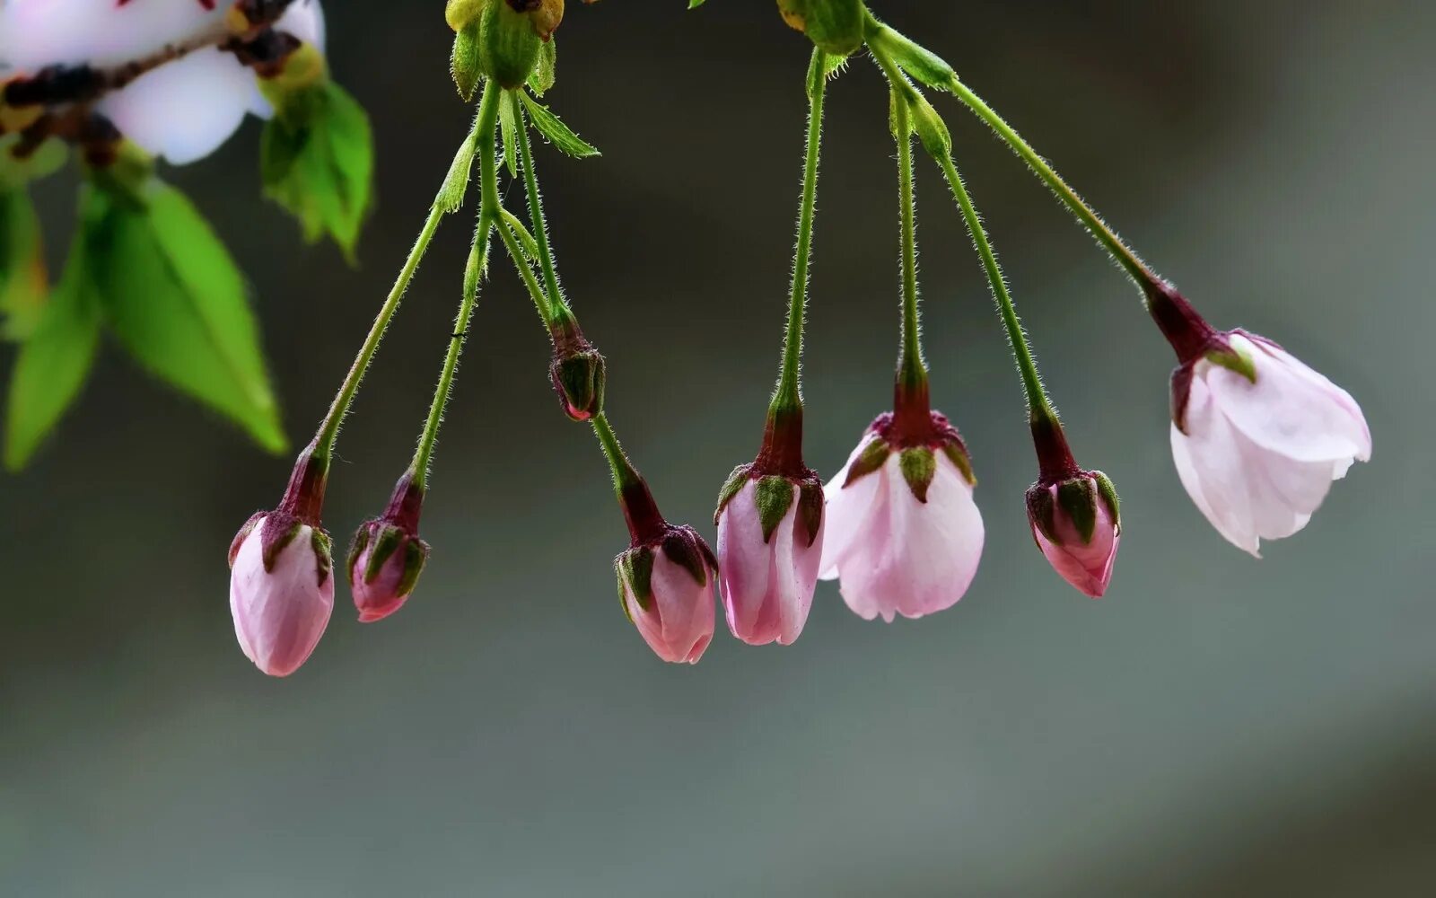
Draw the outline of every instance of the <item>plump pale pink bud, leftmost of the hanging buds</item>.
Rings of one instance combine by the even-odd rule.
[[[329,534],[286,512],[256,514],[230,547],[230,614],[240,648],[271,677],[293,674],[335,606]]]

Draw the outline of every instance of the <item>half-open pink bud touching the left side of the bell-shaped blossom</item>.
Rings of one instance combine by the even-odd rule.
[[[803,634],[823,553],[823,486],[740,467],[718,507],[718,595],[728,629],[750,645]],[[735,491],[734,491],[735,490]]]

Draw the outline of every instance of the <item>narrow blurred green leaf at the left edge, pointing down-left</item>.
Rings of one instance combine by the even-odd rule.
[[[10,375],[4,464],[23,468],[79,395],[99,343],[101,307],[93,292],[83,236],[24,342]]]

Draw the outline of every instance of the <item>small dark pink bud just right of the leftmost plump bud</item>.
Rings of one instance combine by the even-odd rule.
[[[419,539],[424,490],[406,473],[393,487],[382,517],[365,522],[349,547],[349,589],[360,624],[382,621],[399,611],[429,557]]]

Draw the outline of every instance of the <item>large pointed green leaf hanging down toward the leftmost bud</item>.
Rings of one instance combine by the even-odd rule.
[[[111,328],[149,372],[223,412],[263,448],[284,448],[244,280],[178,190],[145,205],[85,187],[89,269]]]

